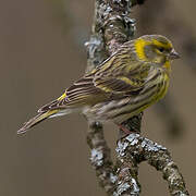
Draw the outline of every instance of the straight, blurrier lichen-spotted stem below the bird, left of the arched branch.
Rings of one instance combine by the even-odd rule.
[[[110,148],[103,137],[103,128],[99,122],[89,124],[87,144],[91,149],[90,162],[96,170],[99,184],[108,195],[112,195],[117,176],[113,172]]]

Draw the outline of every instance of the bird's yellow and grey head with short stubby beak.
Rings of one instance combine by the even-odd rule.
[[[173,59],[180,58],[171,41],[160,35],[146,35],[135,40],[135,50],[140,61],[155,65],[164,65]]]

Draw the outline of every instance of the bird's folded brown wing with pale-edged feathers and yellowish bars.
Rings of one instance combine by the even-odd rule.
[[[52,102],[41,107],[38,112],[95,105],[101,101],[126,95],[136,95],[143,89],[144,83],[130,79],[125,76],[118,77],[82,77],[76,81],[65,93]]]

